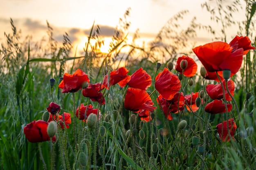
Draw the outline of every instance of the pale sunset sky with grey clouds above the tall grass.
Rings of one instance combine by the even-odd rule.
[[[184,23],[196,16],[199,22],[211,24],[209,13],[201,7],[206,1],[212,3],[213,0],[0,0],[0,42],[4,40],[4,32],[11,33],[12,18],[17,29],[24,35],[32,35],[34,40],[46,34],[47,21],[54,29],[56,40],[61,42],[66,32],[79,48],[84,46],[86,34],[95,22],[101,28],[107,47],[119,18],[130,8],[130,36],[139,29],[138,41],[148,43],[169,18],[182,10],[189,10]],[[211,41],[208,35],[200,33],[198,40]],[[102,51],[106,51],[106,47]]]

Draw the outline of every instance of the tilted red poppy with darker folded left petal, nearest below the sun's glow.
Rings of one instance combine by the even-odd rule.
[[[120,87],[124,87],[130,80],[130,75],[127,75],[128,72],[129,71],[125,67],[118,68],[116,71],[111,71],[109,80],[108,75],[105,75],[103,79],[103,86],[107,89],[115,84],[119,84]]]

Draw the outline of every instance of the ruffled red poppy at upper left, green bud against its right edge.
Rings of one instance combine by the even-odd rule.
[[[62,93],[73,93],[82,88],[83,82],[90,83],[88,75],[81,69],[77,69],[74,74],[65,73],[58,87],[62,89]]]

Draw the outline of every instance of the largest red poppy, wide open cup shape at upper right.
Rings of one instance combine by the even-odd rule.
[[[243,61],[243,48],[233,51],[226,42],[212,42],[193,49],[208,72],[229,69],[234,75]]]

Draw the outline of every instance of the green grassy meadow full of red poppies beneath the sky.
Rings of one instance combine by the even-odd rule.
[[[98,50],[93,24],[83,56],[71,56],[67,34],[58,44],[50,25],[46,44],[22,42],[10,20],[0,49],[0,169],[255,170],[256,3],[246,4],[243,32],[227,42],[222,20],[222,38],[189,53],[126,42],[129,10],[109,52]]]

